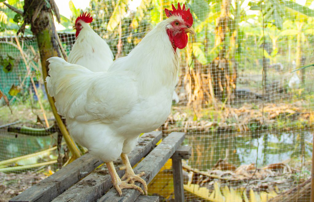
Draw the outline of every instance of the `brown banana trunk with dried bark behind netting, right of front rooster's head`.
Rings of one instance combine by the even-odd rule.
[[[236,88],[236,66],[230,67],[230,57],[225,44],[225,39],[231,37],[229,25],[231,0],[222,0],[220,17],[217,18],[215,28],[215,47],[221,46],[218,56],[211,62],[211,76],[214,93],[221,101],[233,99],[233,90]]]

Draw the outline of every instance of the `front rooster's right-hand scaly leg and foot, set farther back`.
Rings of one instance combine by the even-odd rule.
[[[145,174],[145,172],[141,172],[140,174],[135,174],[132,166],[130,164],[129,158],[127,157],[127,154],[121,154],[121,159],[124,164],[123,167],[120,169],[125,169],[125,174],[122,176],[122,180],[126,179],[126,181],[129,181],[131,184],[134,184],[135,182],[140,182],[144,186],[145,194],[147,195],[147,184],[144,179],[141,177]]]

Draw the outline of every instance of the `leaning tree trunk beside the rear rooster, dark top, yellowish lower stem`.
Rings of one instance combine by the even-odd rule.
[[[58,45],[57,31],[52,18],[51,6],[47,5],[47,1],[25,0],[23,15],[24,22],[31,25],[31,31],[37,38],[38,48],[41,56],[42,74],[45,81],[49,70],[49,62],[47,59],[53,56],[62,57],[62,53]],[[46,92],[48,92],[46,82],[45,89]],[[57,114],[54,99],[50,97],[48,93],[47,97],[62,135],[73,155],[73,158],[76,159],[80,156],[80,153],[71,139],[65,124],[62,122],[60,115]]]

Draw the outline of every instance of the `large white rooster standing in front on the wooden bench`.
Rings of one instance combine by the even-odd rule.
[[[127,154],[140,133],[157,129],[170,114],[179,68],[177,48],[187,45],[187,33],[195,34],[190,9],[179,3],[178,9],[173,5],[172,9],[165,9],[168,18],[107,72],[92,72],[58,57],[48,59],[47,88],[58,113],[66,118],[73,138],[106,163],[120,196],[124,188],[144,194],[129,184],[133,181],[141,182],[147,194],[146,182],[140,178],[143,173],[134,174]],[[120,155],[126,167],[124,181],[112,162]]]

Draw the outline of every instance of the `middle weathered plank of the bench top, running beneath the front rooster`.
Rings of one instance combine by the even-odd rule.
[[[144,156],[146,156],[156,146],[156,143],[161,138],[162,132],[160,131],[153,131],[141,136],[136,149],[128,155],[131,165],[135,165]],[[121,158],[115,161],[114,164],[118,175],[122,177],[124,170],[119,170],[119,168],[123,165]],[[103,165],[77,184],[74,184],[70,189],[56,197],[53,201],[96,201],[111,187],[111,177],[108,173],[106,165]]]

